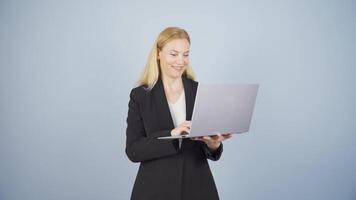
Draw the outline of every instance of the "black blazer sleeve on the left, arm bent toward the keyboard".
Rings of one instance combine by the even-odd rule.
[[[132,162],[149,161],[179,152],[176,140],[159,140],[169,136],[171,130],[162,130],[147,136],[140,113],[139,99],[134,90],[130,93],[126,129],[126,154]]]

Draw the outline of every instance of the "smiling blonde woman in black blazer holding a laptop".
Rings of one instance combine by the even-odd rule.
[[[149,54],[139,87],[130,93],[126,154],[140,162],[132,200],[219,199],[207,159],[218,160],[231,134],[159,140],[189,133],[198,83],[189,65],[190,38],[163,30]]]

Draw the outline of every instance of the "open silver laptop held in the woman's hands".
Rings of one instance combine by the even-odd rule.
[[[248,132],[258,87],[258,84],[199,83],[190,133],[158,139]]]

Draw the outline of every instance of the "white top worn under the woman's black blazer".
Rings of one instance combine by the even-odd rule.
[[[177,127],[186,120],[185,94],[184,91],[175,103],[168,101],[169,111],[173,119],[174,127]],[[179,139],[179,148],[182,145],[182,138]]]

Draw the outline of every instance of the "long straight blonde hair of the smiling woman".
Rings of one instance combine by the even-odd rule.
[[[157,59],[158,50],[162,50],[164,45],[174,39],[187,39],[190,44],[189,35],[184,29],[178,27],[168,27],[164,29],[158,35],[153,48],[148,55],[144,71],[138,80],[140,86],[145,86],[151,90],[157,83],[160,78],[159,60]],[[187,65],[183,75],[189,79],[195,80],[195,75],[190,64]]]

